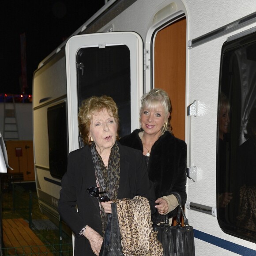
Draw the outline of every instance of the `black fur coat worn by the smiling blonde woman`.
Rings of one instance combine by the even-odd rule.
[[[139,138],[139,129],[120,139],[120,143],[143,151]],[[148,162],[149,179],[154,183],[157,198],[168,196],[171,192],[181,195],[181,204],[187,200],[186,193],[186,157],[187,145],[166,131],[154,143]],[[146,158],[146,156],[145,156]],[[177,208],[168,214],[168,218],[177,215]],[[162,216],[157,213],[152,215],[152,221],[158,223]]]

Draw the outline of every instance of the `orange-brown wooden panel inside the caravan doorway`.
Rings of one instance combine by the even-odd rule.
[[[154,44],[154,88],[165,90],[171,99],[173,135],[185,140],[186,19],[158,31]]]

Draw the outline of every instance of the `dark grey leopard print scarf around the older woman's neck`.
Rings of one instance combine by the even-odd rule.
[[[102,158],[96,150],[95,143],[91,144],[91,155],[100,192],[105,191],[105,195],[108,196],[110,200],[117,199],[120,180],[120,154],[117,142],[111,148],[108,169],[105,168]],[[102,231],[105,233],[108,216],[104,211],[101,211],[101,219]]]

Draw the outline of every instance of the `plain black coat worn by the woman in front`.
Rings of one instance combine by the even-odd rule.
[[[145,196],[154,208],[154,187],[148,179],[147,167],[140,151],[118,143],[120,153],[120,183],[117,198]],[[75,234],[75,256],[93,256],[87,238],[79,235],[86,225],[102,234],[102,222],[98,199],[87,192],[96,186],[95,169],[90,147],[72,151],[68,156],[68,169],[61,180],[58,211],[61,218]],[[76,206],[79,211],[76,211]]]

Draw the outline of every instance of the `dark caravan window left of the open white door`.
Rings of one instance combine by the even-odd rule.
[[[49,168],[53,177],[61,179],[67,170],[68,128],[66,104],[62,102],[47,109]]]

